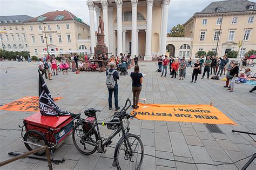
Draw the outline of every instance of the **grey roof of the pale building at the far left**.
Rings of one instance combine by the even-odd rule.
[[[17,24],[16,20],[18,20],[19,23],[23,23],[32,18],[33,17],[28,15],[9,15],[9,16],[0,16],[0,21],[1,21],[1,24]],[[7,21],[7,23],[4,22],[5,20]],[[11,23],[11,20],[13,21],[13,23]]]

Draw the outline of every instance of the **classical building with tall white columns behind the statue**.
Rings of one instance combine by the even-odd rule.
[[[103,17],[109,53],[130,52],[144,55],[145,60],[165,54],[169,4],[170,0],[88,0],[92,54],[96,46],[94,11],[97,20]]]

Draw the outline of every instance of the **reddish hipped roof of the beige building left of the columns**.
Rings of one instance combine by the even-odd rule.
[[[75,20],[80,23],[85,24],[82,19],[76,17],[73,15],[73,13],[63,10],[63,11],[51,11],[44,13],[41,16],[38,16],[36,18],[30,19],[28,22],[46,22],[46,21],[69,21],[69,20]]]

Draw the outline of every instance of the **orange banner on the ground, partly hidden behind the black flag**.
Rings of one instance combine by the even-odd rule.
[[[55,101],[60,100],[60,97],[53,98]],[[12,101],[9,104],[0,106],[0,110],[6,111],[21,111],[21,112],[38,112],[38,97],[28,96],[22,99]]]

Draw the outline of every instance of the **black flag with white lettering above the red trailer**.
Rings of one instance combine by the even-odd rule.
[[[51,97],[51,93],[45,84],[44,78],[39,72],[39,111],[42,115],[50,116],[60,116],[60,115],[72,115],[73,113],[60,110],[60,108],[55,104],[54,100]]]

